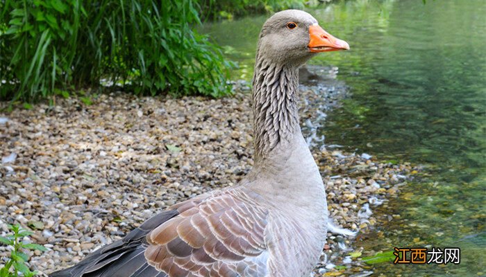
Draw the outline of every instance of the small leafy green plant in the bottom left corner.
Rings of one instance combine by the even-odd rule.
[[[0,277],[17,277],[36,276],[37,271],[31,271],[26,265],[28,256],[22,250],[31,249],[39,251],[47,251],[47,248],[35,243],[23,243],[19,239],[28,237],[33,233],[22,229],[19,225],[8,225],[8,229],[13,232],[13,235],[7,235],[7,237],[0,237],[0,244],[10,245],[13,249],[10,252],[10,258],[6,264],[0,268]],[[22,275],[19,275],[22,274]]]

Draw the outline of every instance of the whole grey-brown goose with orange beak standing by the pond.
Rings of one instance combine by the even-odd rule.
[[[301,10],[262,27],[253,75],[254,166],[236,186],[170,206],[59,276],[309,276],[328,211],[299,126],[299,66],[349,45]]]

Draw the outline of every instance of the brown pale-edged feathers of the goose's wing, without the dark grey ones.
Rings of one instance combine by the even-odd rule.
[[[180,215],[148,235],[146,260],[169,276],[174,270],[180,274],[179,269],[224,277],[266,272],[268,212],[256,202],[258,195],[251,194],[240,187],[179,205]]]

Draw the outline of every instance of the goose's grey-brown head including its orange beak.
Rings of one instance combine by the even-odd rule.
[[[271,16],[258,41],[258,57],[290,66],[301,66],[320,52],[340,50],[349,50],[349,44],[327,33],[302,10],[283,10]]]

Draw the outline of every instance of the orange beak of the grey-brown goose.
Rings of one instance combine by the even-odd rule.
[[[321,26],[312,25],[309,27],[309,50],[310,52],[330,52],[339,50],[349,50],[349,44],[344,40],[337,39],[327,33]]]

